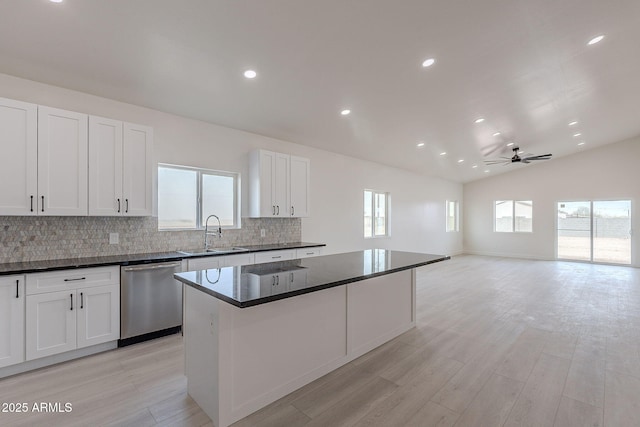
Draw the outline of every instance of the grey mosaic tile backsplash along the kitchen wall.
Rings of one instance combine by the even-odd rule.
[[[299,242],[300,218],[242,218],[242,228],[210,236],[211,246]],[[265,237],[260,237],[260,230]],[[119,244],[109,244],[109,234]],[[154,217],[0,217],[0,263],[204,247],[204,231],[158,231]]]

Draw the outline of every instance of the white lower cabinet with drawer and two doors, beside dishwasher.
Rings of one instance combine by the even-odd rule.
[[[38,359],[120,338],[118,267],[27,275],[26,360]],[[99,274],[95,274],[95,273]],[[64,273],[68,273],[65,277]],[[91,277],[112,277],[111,284]],[[117,278],[117,283],[116,283]],[[47,292],[38,283],[52,283]]]

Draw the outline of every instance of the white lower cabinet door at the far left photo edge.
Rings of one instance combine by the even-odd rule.
[[[24,277],[0,277],[0,368],[24,362]]]

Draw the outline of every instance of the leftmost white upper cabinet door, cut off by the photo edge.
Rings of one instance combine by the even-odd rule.
[[[0,215],[35,215],[38,107],[0,98]]]

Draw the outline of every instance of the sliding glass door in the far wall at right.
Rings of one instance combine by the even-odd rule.
[[[558,259],[631,264],[631,201],[558,203]]]

